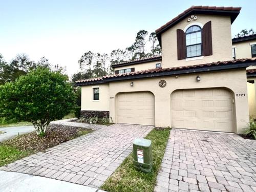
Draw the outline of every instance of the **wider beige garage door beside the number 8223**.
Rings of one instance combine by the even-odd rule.
[[[172,93],[172,127],[233,132],[232,96],[225,89]]]

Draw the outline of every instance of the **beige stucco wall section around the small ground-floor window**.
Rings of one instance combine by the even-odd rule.
[[[93,88],[99,88],[99,100],[93,100]],[[109,84],[82,86],[81,110],[109,111]]]

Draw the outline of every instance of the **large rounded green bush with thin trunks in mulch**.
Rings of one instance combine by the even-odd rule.
[[[49,123],[63,118],[75,104],[68,76],[50,69],[36,69],[0,86],[0,116],[29,121],[44,136]]]

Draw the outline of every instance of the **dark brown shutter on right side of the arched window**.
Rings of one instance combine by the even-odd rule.
[[[202,30],[203,56],[212,55],[211,21],[207,22]]]

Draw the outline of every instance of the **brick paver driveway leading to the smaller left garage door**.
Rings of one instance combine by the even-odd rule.
[[[132,151],[135,138],[152,126],[114,124],[0,167],[72,183],[99,187]]]

